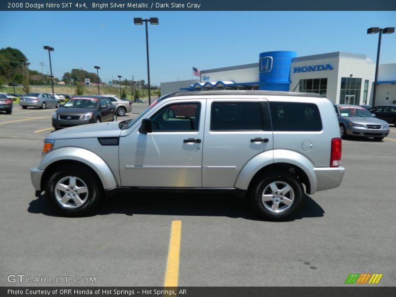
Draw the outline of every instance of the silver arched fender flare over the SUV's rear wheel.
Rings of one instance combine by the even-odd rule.
[[[317,180],[312,162],[303,155],[287,149],[274,149],[265,151],[250,159],[238,176],[235,188],[247,190],[253,176],[263,167],[272,163],[289,163],[301,168],[309,179],[311,191],[316,192]]]

